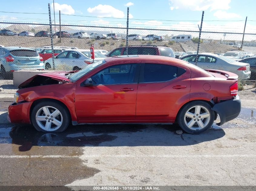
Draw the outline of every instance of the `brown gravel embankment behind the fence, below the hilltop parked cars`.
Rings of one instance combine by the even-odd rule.
[[[4,46],[24,46],[24,47],[40,47],[40,46],[51,46],[51,40],[49,37],[19,37],[19,36],[0,36],[0,42]],[[109,44],[102,45],[104,42]],[[59,39],[53,39],[54,46],[75,46],[80,49],[89,49],[91,46],[91,39],[75,39],[75,38],[62,38],[62,42]],[[95,40],[97,43],[96,49],[112,50],[120,46],[125,46],[126,42],[121,40]],[[157,42],[153,41],[134,41],[129,40],[129,45],[158,45],[158,46],[169,46],[174,51],[189,51],[197,50],[197,43],[192,41],[174,43],[169,45],[168,41]],[[199,52],[211,52],[211,53],[225,53],[227,51],[237,50],[232,46],[225,44],[215,43],[202,43],[199,48]]]

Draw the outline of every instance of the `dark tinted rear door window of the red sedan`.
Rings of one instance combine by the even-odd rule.
[[[165,64],[145,64],[141,82],[170,81],[178,76],[178,67]]]

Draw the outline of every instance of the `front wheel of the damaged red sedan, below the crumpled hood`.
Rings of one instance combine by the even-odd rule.
[[[47,113],[45,114],[44,111],[47,111]],[[54,112],[58,113],[55,117]],[[53,117],[51,117],[51,115]],[[38,120],[36,120],[36,118]],[[31,112],[32,125],[36,130],[42,132],[65,131],[70,124],[70,120],[68,109],[55,101],[39,102]]]

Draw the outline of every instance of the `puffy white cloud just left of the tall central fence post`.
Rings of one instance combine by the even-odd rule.
[[[124,18],[125,14],[111,5],[97,5],[93,8],[89,7],[87,11],[91,14],[97,15],[98,17],[114,17]]]

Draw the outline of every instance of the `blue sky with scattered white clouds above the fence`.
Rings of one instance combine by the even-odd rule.
[[[11,0],[2,1],[1,21],[23,21],[33,23],[48,22],[48,2],[53,0]],[[129,7],[129,27],[148,27],[156,29],[198,30],[202,11],[205,31],[243,32],[246,16],[246,33],[256,33],[254,0],[55,0],[55,22],[59,22],[61,11],[62,24],[126,26],[127,7]],[[21,14],[5,12],[29,12],[46,14]],[[77,16],[72,16],[77,15]],[[87,17],[89,16],[89,17]],[[108,18],[106,18],[108,17]],[[206,34],[204,34],[206,35]]]

